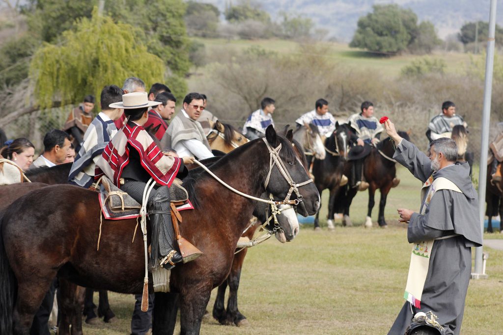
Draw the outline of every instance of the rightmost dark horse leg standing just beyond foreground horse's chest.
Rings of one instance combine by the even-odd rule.
[[[229,299],[227,300],[227,322],[228,324],[234,323],[239,326],[248,325],[246,317],[237,309],[237,290],[239,288],[239,279],[241,277],[241,268],[243,267],[244,256],[246,250],[234,255],[232,261],[232,268],[227,276],[227,283],[229,284]]]

